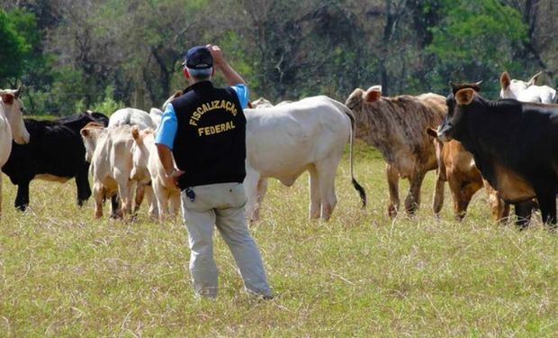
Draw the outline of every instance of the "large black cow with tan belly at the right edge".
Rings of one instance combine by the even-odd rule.
[[[462,142],[504,201],[518,208],[536,197],[543,221],[555,228],[558,105],[489,101],[454,84],[452,91],[438,137]]]

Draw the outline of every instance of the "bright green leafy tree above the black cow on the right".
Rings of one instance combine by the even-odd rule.
[[[517,10],[498,0],[441,4],[443,19],[430,29],[433,41],[426,49],[437,58],[434,86],[446,89],[449,79],[484,80],[483,87],[495,90],[502,69],[513,64],[513,48],[527,40],[527,25]]]

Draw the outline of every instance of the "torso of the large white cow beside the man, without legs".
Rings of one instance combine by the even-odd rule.
[[[338,105],[344,106],[327,96],[312,96],[246,109],[248,164],[263,177],[297,175],[332,151],[342,151],[350,120]]]

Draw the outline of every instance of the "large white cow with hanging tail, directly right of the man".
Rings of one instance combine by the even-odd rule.
[[[246,109],[247,215],[259,219],[266,178],[292,186],[310,172],[310,217],[328,220],[337,204],[335,175],[350,140],[351,178],[365,205],[365,191],[353,175],[355,118],[347,106],[328,96],[313,96],[266,108]]]

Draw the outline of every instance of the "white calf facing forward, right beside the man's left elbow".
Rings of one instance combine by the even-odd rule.
[[[172,217],[178,215],[180,189],[174,185],[167,185],[165,168],[158,157],[153,130],[139,131],[137,127],[132,127],[131,136],[134,139],[131,149],[133,165],[131,178],[139,182],[150,181],[153,192],[157,197],[157,208],[151,207],[149,215],[156,217],[158,210],[158,217],[161,222],[165,221],[166,215]]]

